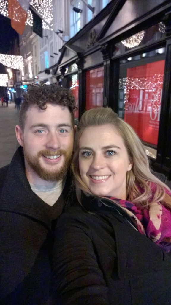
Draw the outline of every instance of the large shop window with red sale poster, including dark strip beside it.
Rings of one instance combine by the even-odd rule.
[[[129,123],[140,139],[157,146],[165,60],[131,57],[120,64],[118,115]],[[159,53],[158,53],[159,54]]]

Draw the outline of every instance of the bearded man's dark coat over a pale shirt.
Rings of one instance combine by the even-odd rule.
[[[68,176],[58,199],[70,205]],[[54,228],[59,215],[30,188],[25,175],[23,149],[10,165],[0,169],[0,304],[49,304]],[[53,220],[52,220],[53,219]]]

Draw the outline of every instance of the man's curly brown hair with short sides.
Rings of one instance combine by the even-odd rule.
[[[47,103],[62,105],[68,107],[71,116],[72,124],[74,126],[74,114],[76,105],[75,99],[69,89],[59,88],[57,84],[42,84],[37,83],[29,84],[27,91],[23,95],[23,104],[19,113],[19,125],[24,129],[26,120],[26,112],[30,106],[37,105],[40,109],[45,110]]]

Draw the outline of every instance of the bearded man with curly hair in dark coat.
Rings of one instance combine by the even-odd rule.
[[[30,85],[11,163],[0,169],[0,304],[50,304],[53,231],[70,206],[74,97]]]

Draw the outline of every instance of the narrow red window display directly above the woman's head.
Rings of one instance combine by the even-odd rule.
[[[86,72],[86,110],[103,107],[104,67]]]

